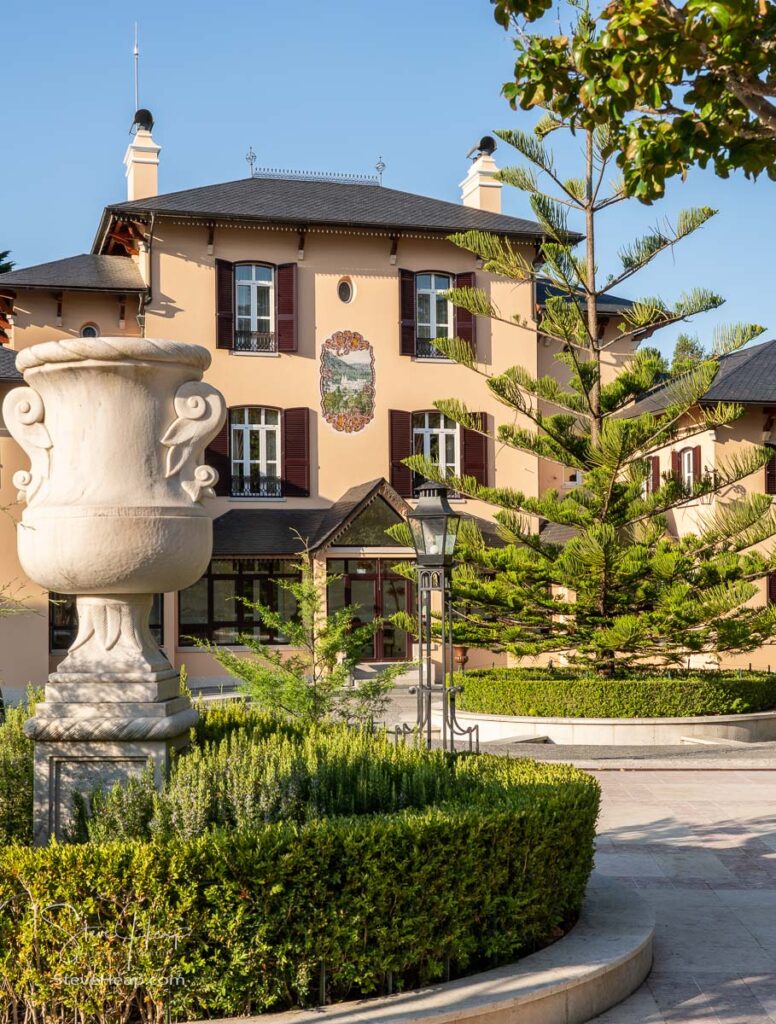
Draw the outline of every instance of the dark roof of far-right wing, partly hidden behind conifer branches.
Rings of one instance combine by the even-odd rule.
[[[670,385],[660,384],[622,410],[622,416],[660,413],[669,404]],[[747,346],[720,359],[720,369],[701,404],[736,401],[743,406],[776,404],[776,339]]]

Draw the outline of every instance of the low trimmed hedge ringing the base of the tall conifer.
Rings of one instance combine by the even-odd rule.
[[[462,711],[540,718],[690,718],[776,710],[776,674],[696,672],[615,679],[573,670],[479,669],[457,675]]]

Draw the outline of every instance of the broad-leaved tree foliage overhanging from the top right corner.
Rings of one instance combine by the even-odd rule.
[[[547,106],[579,127],[614,126],[629,193],[652,200],[692,164],[776,178],[773,0],[577,3],[566,33],[530,32],[551,0],[494,0],[515,32],[513,105]]]

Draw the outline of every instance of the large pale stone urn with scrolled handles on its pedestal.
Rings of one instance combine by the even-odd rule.
[[[205,572],[218,474],[201,464],[225,402],[202,381],[199,345],[75,338],[24,349],[27,387],[3,417],[30,457],[13,483],[26,509],[19,561],[75,594],[78,634],[26,726],[36,742],[35,837],[62,836],[73,794],[142,770],[159,777],[197,713],[148,628],[154,594]]]

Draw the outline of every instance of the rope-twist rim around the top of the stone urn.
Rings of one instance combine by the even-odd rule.
[[[64,338],[43,341],[24,348],[16,356],[19,373],[57,362],[121,362],[126,359],[141,362],[176,362],[204,371],[210,366],[210,352],[202,345],[186,341],[155,338]]]

